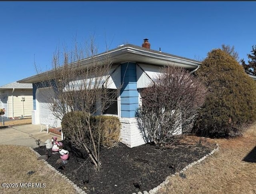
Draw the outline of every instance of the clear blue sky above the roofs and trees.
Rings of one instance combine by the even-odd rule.
[[[68,49],[95,34],[99,51],[121,44],[201,59],[222,44],[240,58],[256,45],[256,2],[0,2],[0,86],[51,67],[58,45]]]

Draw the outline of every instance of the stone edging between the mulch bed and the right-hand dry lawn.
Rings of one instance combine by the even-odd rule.
[[[180,175],[181,173],[183,173],[183,172],[185,172],[186,170],[188,170],[188,168],[190,168],[190,167],[192,167],[192,166],[194,166],[194,165],[196,165],[196,164],[199,164],[199,163],[202,162],[205,158],[207,158],[208,156],[211,156],[212,154],[214,154],[214,152],[220,150],[219,145],[216,144],[216,146],[217,146],[217,147],[216,147],[215,149],[213,149],[209,154],[206,154],[204,157],[200,158],[199,160],[194,161],[194,162],[188,164],[187,166],[185,166],[185,168],[183,168],[182,170],[180,170],[180,172],[176,172],[175,174],[172,174],[171,176],[167,176],[167,178],[166,178],[162,183],[160,183],[160,185],[158,185],[157,187],[151,189],[149,192],[143,191],[143,193],[142,193],[142,192],[138,192],[138,193],[132,193],[132,194],[156,194],[156,193],[160,190],[160,188],[164,187],[166,184],[168,184],[168,183],[170,182],[170,178],[171,178],[172,176]]]

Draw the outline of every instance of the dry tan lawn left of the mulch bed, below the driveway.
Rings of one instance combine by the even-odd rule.
[[[29,171],[34,174],[29,175]],[[44,188],[0,188],[1,194],[75,194],[76,190],[42,160],[24,146],[0,145],[0,177],[2,183],[45,183]]]

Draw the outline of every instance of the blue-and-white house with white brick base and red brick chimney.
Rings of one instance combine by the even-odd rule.
[[[194,72],[199,68],[200,62],[152,50],[147,39],[144,40],[142,47],[131,44],[122,45],[108,52],[100,53],[94,59],[100,60],[104,55],[110,55],[113,61],[112,67],[115,69],[110,74],[113,84],[109,88],[116,89],[122,82],[120,95],[107,113],[120,118],[122,143],[129,147],[142,145],[144,140],[135,117],[136,110],[141,103],[140,89],[148,87],[154,81],[162,66],[176,65]],[[84,60],[84,65],[87,65],[88,62],[90,62],[90,58]],[[54,119],[52,112],[47,109],[47,104],[50,102],[46,99],[47,95],[51,95],[52,88],[38,87],[40,78],[45,77],[47,79],[47,76],[52,72],[53,70],[46,71],[41,73],[40,76],[34,75],[18,81],[20,83],[33,83],[34,110],[32,124],[42,124],[49,118]],[[54,125],[60,127],[60,121],[56,119]]]

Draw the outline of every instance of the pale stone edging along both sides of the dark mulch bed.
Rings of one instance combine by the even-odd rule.
[[[176,175],[180,175],[181,173],[185,172],[186,170],[188,170],[188,168],[191,168],[192,166],[199,164],[200,162],[202,162],[205,158],[211,156],[212,154],[214,154],[214,152],[220,150],[220,147],[218,144],[216,144],[217,148],[213,149],[209,154],[206,154],[205,156],[203,156],[202,158],[200,158],[197,161],[194,161],[190,164],[188,164],[187,166],[185,166],[182,170],[180,170],[180,172],[176,172],[175,174],[172,174],[171,176],[167,176],[167,178],[160,183],[160,185],[156,186],[155,188],[149,190],[149,192],[147,191],[143,191],[142,192],[138,192],[138,193],[132,193],[132,194],[156,194],[158,192],[158,190],[160,190],[160,188],[164,187],[166,184],[168,184],[170,182],[170,178],[172,176],[176,176]],[[37,156],[41,156],[38,152],[36,152],[36,150],[34,150],[33,148],[29,147],[30,150],[32,150],[32,152],[34,152]],[[60,176],[62,176],[62,178],[64,178],[71,186],[74,187],[74,189],[79,193],[79,194],[86,194],[86,192],[84,190],[82,190],[79,186],[77,186],[76,184],[74,184],[74,182],[72,182],[70,179],[68,179],[68,177],[66,177],[64,174],[62,174],[61,172],[59,172],[58,170],[56,170],[51,164],[49,164],[45,159],[43,160],[44,163],[54,172],[56,172],[57,174],[59,174]]]

